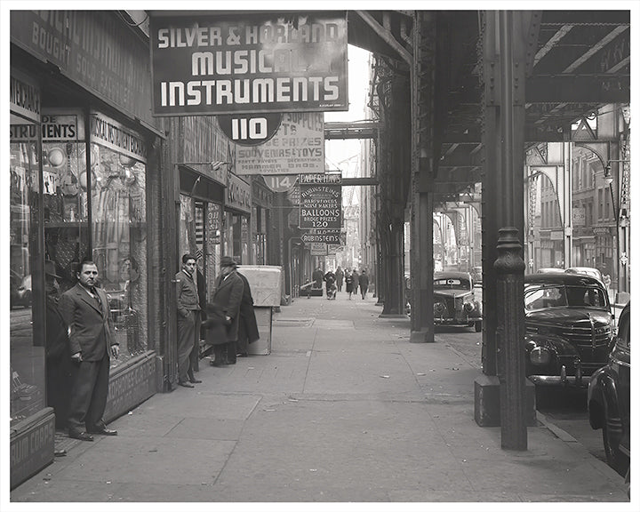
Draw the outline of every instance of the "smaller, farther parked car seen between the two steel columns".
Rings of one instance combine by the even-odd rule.
[[[482,300],[477,300],[468,272],[434,274],[434,323],[468,325],[482,331]]]

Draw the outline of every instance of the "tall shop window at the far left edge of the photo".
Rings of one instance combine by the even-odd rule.
[[[43,318],[36,277],[36,261],[41,257],[36,252],[40,245],[37,243],[40,155],[39,124],[12,113],[9,193],[12,426],[45,406]]]

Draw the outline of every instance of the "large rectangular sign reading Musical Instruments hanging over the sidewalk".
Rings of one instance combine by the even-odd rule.
[[[154,12],[155,116],[348,110],[346,12]]]

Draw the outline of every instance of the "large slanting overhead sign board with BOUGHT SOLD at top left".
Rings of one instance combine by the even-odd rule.
[[[11,41],[153,124],[148,46],[116,12],[11,11]]]

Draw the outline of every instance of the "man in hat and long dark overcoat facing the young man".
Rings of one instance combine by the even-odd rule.
[[[220,258],[220,276],[216,281],[213,302],[220,306],[227,323],[227,341],[214,345],[214,366],[236,363],[236,341],[240,326],[240,302],[244,283],[236,272],[236,261],[230,256]]]

